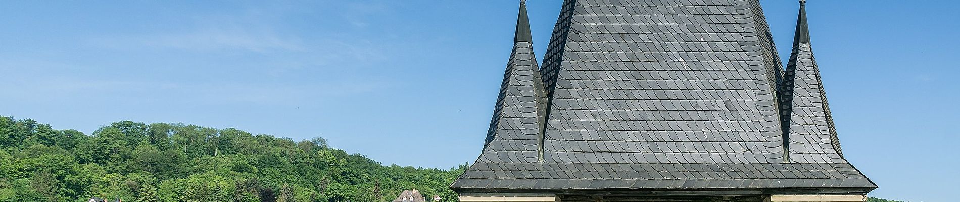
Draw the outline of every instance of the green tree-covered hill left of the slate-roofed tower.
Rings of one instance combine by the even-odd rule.
[[[182,123],[117,122],[85,135],[0,117],[0,202],[383,202],[403,190],[455,201],[449,170],[381,166],[322,138],[295,142]]]

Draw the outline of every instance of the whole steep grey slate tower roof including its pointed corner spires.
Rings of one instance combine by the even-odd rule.
[[[530,111],[537,80],[510,84],[536,69],[517,66],[532,53],[517,43],[488,144],[451,188],[876,189],[840,155],[799,44],[784,79],[758,0],[566,0],[543,61],[544,110]]]

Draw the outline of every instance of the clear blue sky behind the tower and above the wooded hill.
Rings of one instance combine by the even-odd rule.
[[[516,0],[2,1],[0,115],[89,134],[131,120],[236,127],[385,165],[479,154]],[[561,0],[531,0],[543,56]],[[787,57],[798,4],[763,0]],[[960,2],[810,0],[847,158],[875,196],[960,191]]]

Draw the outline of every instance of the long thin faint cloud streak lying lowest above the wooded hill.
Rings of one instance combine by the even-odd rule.
[[[252,84],[244,82],[183,83],[110,79],[17,79],[0,85],[0,98],[54,101],[57,98],[134,101],[142,103],[297,105],[382,90],[383,83],[340,80],[310,84]]]

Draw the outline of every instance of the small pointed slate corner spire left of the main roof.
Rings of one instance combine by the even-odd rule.
[[[480,162],[537,162],[546,94],[534,56],[526,3],[520,3],[514,50],[507,62]]]

